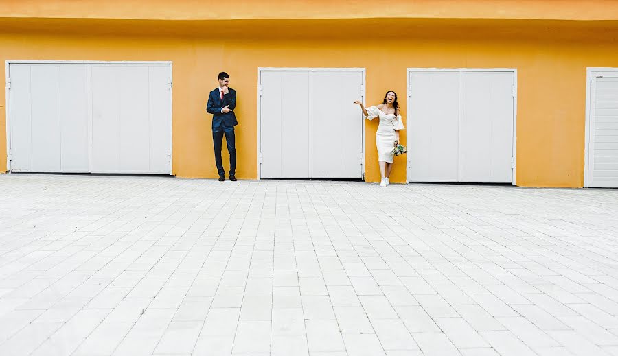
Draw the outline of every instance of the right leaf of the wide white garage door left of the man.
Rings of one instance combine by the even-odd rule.
[[[92,170],[170,173],[170,66],[97,64],[92,73]]]

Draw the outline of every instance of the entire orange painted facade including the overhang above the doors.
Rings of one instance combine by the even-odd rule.
[[[586,67],[618,67],[616,1],[243,0],[231,11],[231,2],[225,9],[218,1],[144,3],[0,1],[0,60],[172,61],[179,177],[217,176],[205,102],[219,71],[230,73],[238,92],[237,176],[255,179],[258,67],[365,68],[367,104],[387,89],[405,98],[411,67],[513,68],[517,185],[582,187]],[[5,105],[2,96],[2,167]],[[376,182],[377,123],[365,125],[365,178]],[[391,182],[405,175],[405,157],[397,157]]]

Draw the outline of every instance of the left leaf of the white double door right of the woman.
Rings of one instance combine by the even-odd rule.
[[[459,73],[410,72],[408,179],[457,182]]]

